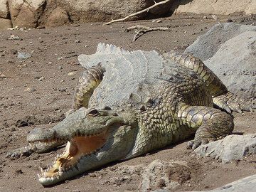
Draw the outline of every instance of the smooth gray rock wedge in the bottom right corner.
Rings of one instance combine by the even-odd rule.
[[[215,188],[210,191],[200,191],[200,192],[255,192],[256,186],[256,175],[247,176],[245,178],[241,178],[238,181],[234,181],[232,183],[228,183],[225,186],[220,188]],[[154,192],[169,192],[169,190],[156,190]],[[199,192],[199,191],[191,191],[191,192]]]

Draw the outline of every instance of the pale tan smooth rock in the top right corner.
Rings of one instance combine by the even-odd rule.
[[[233,14],[244,12],[245,14],[255,14],[256,1],[251,0],[181,0],[176,13],[193,14]]]

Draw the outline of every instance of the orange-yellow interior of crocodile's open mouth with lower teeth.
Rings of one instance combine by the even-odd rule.
[[[59,178],[63,172],[77,168],[77,164],[82,156],[87,156],[98,151],[107,141],[108,133],[76,136],[68,141],[63,154],[58,154],[53,161],[53,166],[49,166],[38,174],[38,178]]]

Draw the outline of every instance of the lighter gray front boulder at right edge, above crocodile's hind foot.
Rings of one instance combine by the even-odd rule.
[[[205,61],[228,90],[243,98],[256,98],[256,31],[247,31],[226,41]],[[255,105],[256,107],[256,105]]]

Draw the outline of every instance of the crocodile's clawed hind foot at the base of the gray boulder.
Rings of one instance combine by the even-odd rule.
[[[225,110],[228,113],[241,113],[242,111],[253,112],[252,105],[249,104],[249,101],[241,99],[232,92],[227,92],[225,95],[213,97],[213,103],[215,106]]]

